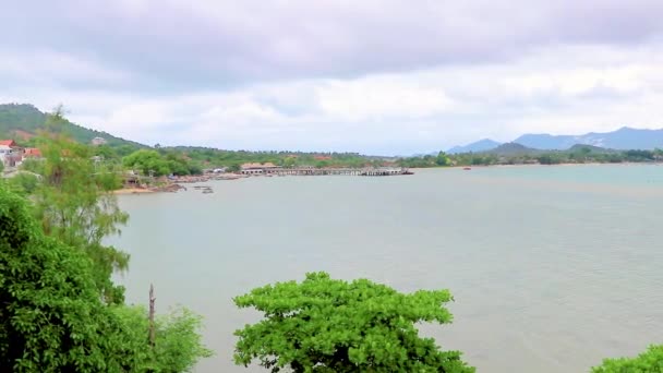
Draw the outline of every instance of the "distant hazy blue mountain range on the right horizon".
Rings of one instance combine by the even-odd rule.
[[[652,151],[654,148],[663,148],[663,130],[638,130],[624,127],[613,132],[590,132],[583,135],[523,134],[510,143],[543,151],[566,151],[577,144],[610,149]],[[499,145],[502,144],[498,142],[484,139],[465,146],[454,146],[448,153],[486,152],[495,149]]]

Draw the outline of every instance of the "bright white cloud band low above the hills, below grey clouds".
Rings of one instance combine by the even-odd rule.
[[[289,80],[162,97],[53,85],[5,91],[0,99],[43,109],[63,103],[82,124],[147,144],[407,154],[486,136],[508,141],[526,132],[661,128],[661,62],[656,45],[554,47],[513,63]],[[96,72],[112,76],[87,70]]]

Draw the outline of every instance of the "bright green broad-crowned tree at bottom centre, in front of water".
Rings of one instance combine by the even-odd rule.
[[[418,322],[450,323],[447,290],[403,294],[366,279],[306,274],[301,284],[277,282],[234,298],[265,318],[237,330],[234,361],[258,359],[278,372],[473,372],[460,352],[441,351],[419,336]]]

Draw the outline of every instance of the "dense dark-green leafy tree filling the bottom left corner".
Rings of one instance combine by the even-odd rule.
[[[0,366],[119,372],[116,327],[82,252],[45,237],[27,203],[0,186]]]

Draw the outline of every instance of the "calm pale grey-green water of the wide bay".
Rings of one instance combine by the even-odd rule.
[[[402,291],[448,288],[451,325],[422,326],[479,372],[587,372],[663,342],[663,167],[419,170],[411,177],[210,182],[214,194],[126,195],[113,243],[131,302],[205,316],[216,357],[256,320],[231,298],[306,272]]]

